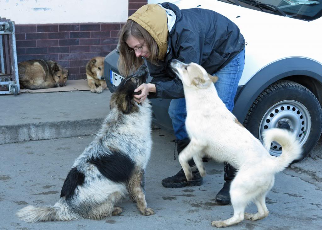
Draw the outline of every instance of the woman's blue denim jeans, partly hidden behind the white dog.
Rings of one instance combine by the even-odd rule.
[[[242,77],[244,61],[245,49],[237,54],[225,67],[214,73],[219,78],[215,83],[218,96],[225,103],[229,111],[232,111],[234,108],[234,97],[236,95],[238,82]],[[172,127],[177,140],[189,138],[185,129],[185,118],[187,116],[185,98],[171,100],[169,116],[172,120]]]

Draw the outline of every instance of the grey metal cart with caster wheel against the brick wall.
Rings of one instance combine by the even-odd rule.
[[[20,93],[14,22],[0,17],[0,94]]]

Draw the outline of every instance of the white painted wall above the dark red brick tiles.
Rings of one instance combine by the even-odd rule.
[[[126,22],[128,0],[0,0],[0,17],[15,24]]]

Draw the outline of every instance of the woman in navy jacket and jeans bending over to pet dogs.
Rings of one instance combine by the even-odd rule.
[[[118,69],[128,76],[147,60],[152,81],[135,92],[138,103],[149,98],[172,99],[169,115],[178,140],[178,154],[189,143],[185,130],[185,98],[182,82],[172,72],[172,58],[184,63],[195,62],[219,80],[215,86],[219,97],[232,111],[234,96],[244,68],[245,40],[238,27],[223,15],[200,8],[180,10],[171,3],[147,4],[128,18],[119,38]],[[194,166],[193,180],[186,181],[181,169],[175,176],[162,180],[167,188],[202,184]],[[235,170],[225,164],[225,183],[216,201],[229,204],[229,187]]]

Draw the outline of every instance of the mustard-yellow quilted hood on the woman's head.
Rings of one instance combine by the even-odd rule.
[[[147,4],[128,17],[146,29],[159,47],[159,59],[164,60],[168,48],[166,10],[158,4]]]

